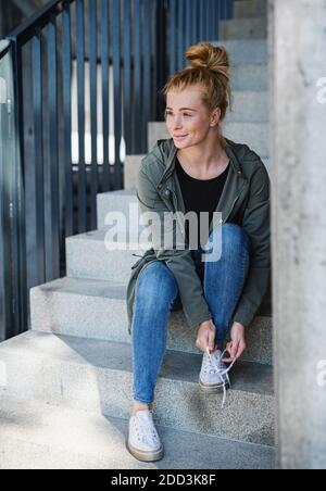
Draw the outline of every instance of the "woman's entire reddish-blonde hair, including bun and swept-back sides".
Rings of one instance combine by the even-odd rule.
[[[201,85],[202,103],[210,112],[220,108],[223,121],[227,109],[231,110],[229,56],[226,49],[200,42],[188,49],[186,58],[191,64],[168,79],[163,87],[163,96],[166,98],[170,91],[181,92],[191,86]],[[222,135],[221,140],[226,144]]]

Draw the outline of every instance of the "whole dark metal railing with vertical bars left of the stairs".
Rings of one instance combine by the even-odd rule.
[[[167,77],[186,66],[187,47],[218,39],[231,4],[52,0],[8,36],[2,338],[27,329],[29,289],[64,276],[65,238],[97,228],[97,194],[123,188],[125,155],[147,153],[148,123],[164,121]]]

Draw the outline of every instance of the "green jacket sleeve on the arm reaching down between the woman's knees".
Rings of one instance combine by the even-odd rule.
[[[174,238],[180,238],[183,234],[177,219],[172,219],[175,215],[160,198],[154,182],[142,165],[138,172],[137,198],[141,215],[155,213],[155,223],[152,222],[151,226],[153,250],[158,260],[164,261],[174,274],[187,323],[191,328],[196,328],[204,320],[211,319],[212,314],[203,295],[191,250],[185,249],[185,239],[183,249],[178,247],[178,239],[166,240],[171,234]]]

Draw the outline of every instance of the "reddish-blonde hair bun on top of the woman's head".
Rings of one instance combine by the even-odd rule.
[[[186,58],[191,62],[189,68],[208,68],[229,79],[229,56],[223,46],[200,42],[188,49]]]

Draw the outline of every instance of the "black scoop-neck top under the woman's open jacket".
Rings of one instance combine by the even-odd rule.
[[[218,204],[230,164],[227,168],[217,177],[213,179],[196,179],[189,176],[178,159],[176,159],[176,172],[180,184],[183,198],[185,202],[186,213],[196,212],[198,216],[198,246],[200,246],[200,212],[209,212],[209,223],[213,219],[213,212]],[[186,222],[186,237],[189,241],[189,223]],[[208,240],[208,235],[204,235],[204,243]]]

